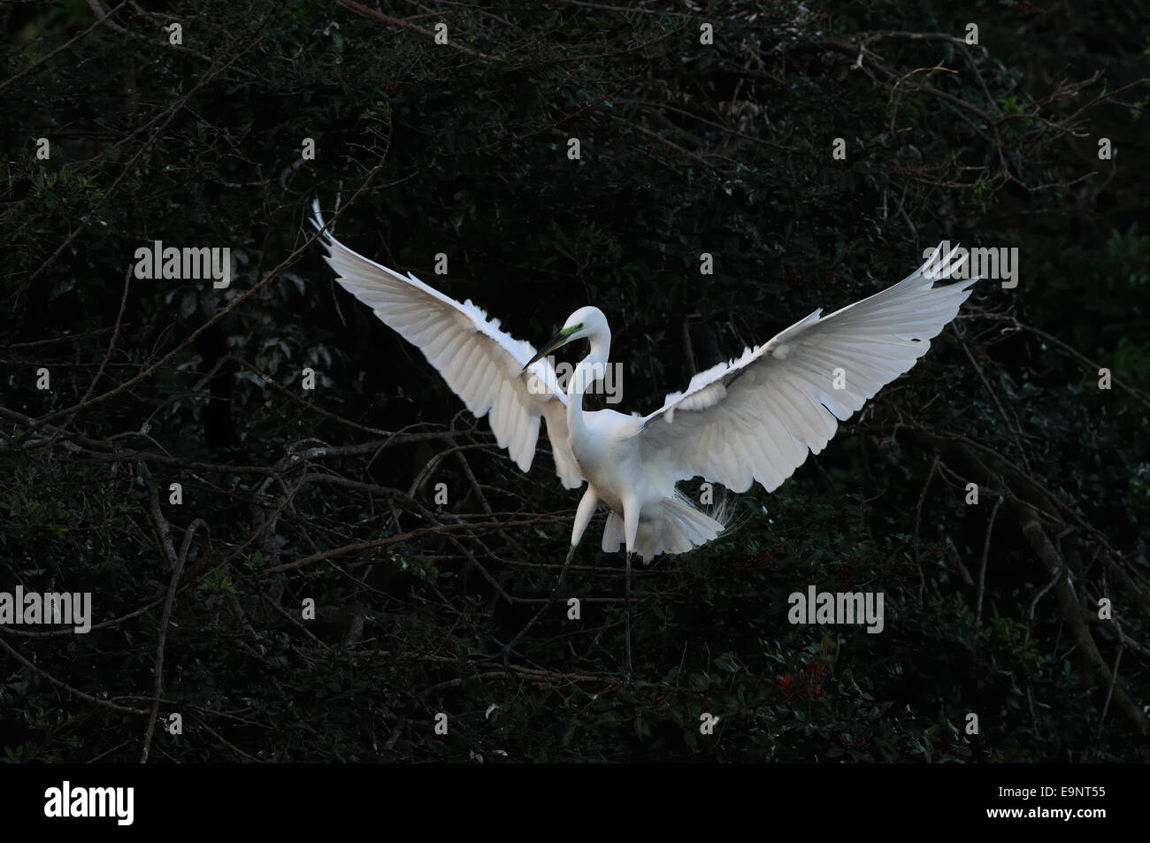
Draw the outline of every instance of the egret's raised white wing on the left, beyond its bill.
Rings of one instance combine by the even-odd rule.
[[[312,208],[312,224],[323,228],[319,200]],[[411,273],[405,278],[347,248],[330,231],[323,233],[323,245],[325,260],[345,290],[422,351],[473,415],[491,412],[496,442],[507,449],[515,465],[524,472],[531,467],[542,415],[547,420],[560,482],[567,489],[583,482],[570,449],[567,398],[551,362],[544,358],[521,371],[535,357],[530,343],[499,330],[499,320],[489,322],[470,299],[459,304]]]

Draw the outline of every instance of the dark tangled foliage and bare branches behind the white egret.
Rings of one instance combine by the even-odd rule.
[[[434,8],[0,12],[0,590],[93,593],[86,635],[0,627],[7,758],[1147,760],[1145,3]],[[1020,273],[637,572],[627,687],[601,514],[581,619],[473,664],[577,498],[332,282],[305,220],[337,194],[348,245],[516,337],[600,307],[626,411],[942,239]],[[230,286],[131,277],[153,240],[229,247]],[[884,592],[883,633],[788,623],[808,584]]]

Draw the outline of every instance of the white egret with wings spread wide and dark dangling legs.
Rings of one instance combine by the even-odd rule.
[[[313,224],[323,228],[319,201]],[[599,504],[607,507],[603,550],[626,549],[624,672],[631,674],[631,554],[650,560],[684,553],[716,538],[722,519],[702,512],[676,482],[702,476],[735,492],[759,482],[774,491],[819,453],[845,421],[882,386],[907,371],[930,338],[958,313],[979,278],[935,286],[966,256],[941,260],[941,246],[912,275],[869,298],[822,316],[815,311],[768,343],[744,350],[691,378],[646,416],[612,409],[586,412],[584,392],[603,377],[611,329],[597,307],[581,307],[536,352],[499,330],[499,321],[467,300],[431,289],[353,252],[323,232],[336,279],[385,324],[423,352],[476,417],[490,413],[499,447],[522,469],[531,467],[539,419],[567,489],[586,482],[575,513],[572,544],[559,584]],[[590,353],[566,392],[547,355],[586,338]],[[504,656],[539,613],[504,649]]]

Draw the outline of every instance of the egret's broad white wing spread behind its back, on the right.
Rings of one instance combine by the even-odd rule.
[[[941,248],[941,247],[940,247]],[[957,251],[957,250],[956,250]],[[764,346],[700,371],[667,396],[638,434],[645,461],[676,480],[703,476],[733,491],[774,491],[875,392],[927,353],[954,319],[972,278],[934,286],[961,266],[940,250],[913,275],[820,317],[815,311]]]

